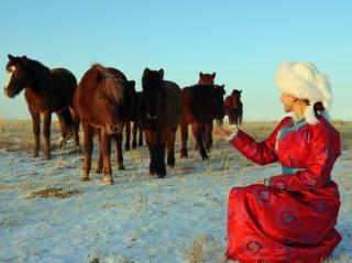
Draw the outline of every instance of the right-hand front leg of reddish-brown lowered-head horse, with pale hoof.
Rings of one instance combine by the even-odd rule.
[[[111,138],[108,135],[108,131],[106,129],[101,129],[101,143],[100,143],[100,151],[102,153],[102,171],[103,171],[103,183],[106,185],[112,185],[112,171],[111,171],[111,163],[110,163],[110,155],[111,155]]]

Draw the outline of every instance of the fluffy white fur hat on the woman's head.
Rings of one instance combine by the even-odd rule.
[[[309,100],[309,106],[305,110],[305,118],[308,123],[318,123],[314,106],[319,101],[322,102],[324,108],[320,114],[330,121],[328,112],[332,102],[330,83],[328,76],[319,73],[312,63],[282,63],[276,73],[276,86],[284,94]]]

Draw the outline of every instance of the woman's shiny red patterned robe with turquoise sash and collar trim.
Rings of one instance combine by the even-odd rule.
[[[330,174],[340,156],[339,132],[322,117],[311,125],[285,118],[263,142],[239,130],[230,141],[244,156],[283,174],[268,186],[230,190],[227,256],[243,263],[318,263],[341,241],[334,229],[340,208]]]

